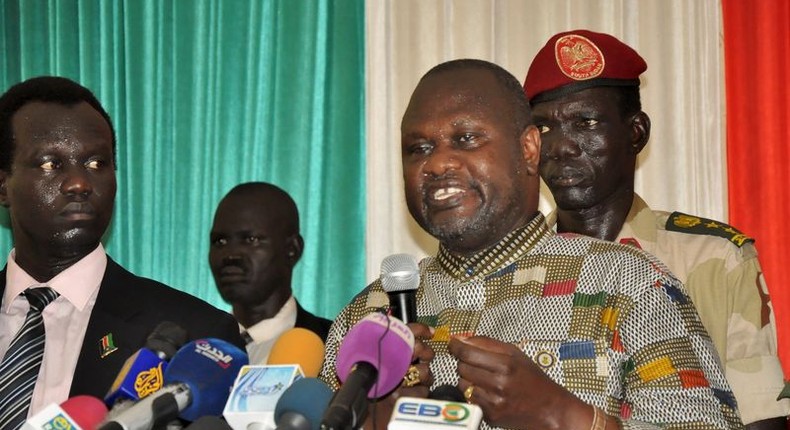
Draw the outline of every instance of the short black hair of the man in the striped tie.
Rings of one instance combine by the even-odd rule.
[[[60,76],[37,76],[9,88],[0,96],[0,169],[8,171],[14,160],[14,130],[11,119],[30,102],[57,103],[74,106],[85,102],[101,114],[112,133],[113,165],[115,163],[115,128],[107,111],[93,93],[71,79]]]

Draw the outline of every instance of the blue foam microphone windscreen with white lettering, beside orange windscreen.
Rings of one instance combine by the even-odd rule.
[[[192,399],[181,418],[195,421],[204,415],[222,415],[239,369],[247,354],[221,339],[198,339],[184,345],[165,370],[165,383],[184,383]]]

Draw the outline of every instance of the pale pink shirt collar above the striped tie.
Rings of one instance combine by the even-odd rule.
[[[57,291],[75,308],[82,311],[85,309],[91,296],[99,289],[106,268],[107,254],[104,251],[104,246],[99,244],[90,254],[82,257],[82,259],[43,284]],[[41,284],[41,282],[36,281],[16,264],[16,249],[12,249],[8,256],[6,288],[3,294],[5,310],[23,291],[33,285]]]

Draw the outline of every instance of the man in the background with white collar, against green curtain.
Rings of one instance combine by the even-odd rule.
[[[279,187],[244,183],[219,203],[209,265],[243,327],[250,363],[265,363],[277,338],[294,327],[326,340],[332,322],[304,310],[291,289],[303,250],[296,203]]]

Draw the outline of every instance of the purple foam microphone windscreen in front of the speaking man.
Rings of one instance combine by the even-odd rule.
[[[369,363],[378,377],[368,397],[378,398],[401,383],[413,351],[414,334],[406,324],[382,313],[371,313],[343,338],[337,351],[337,376],[344,382],[355,364]]]

